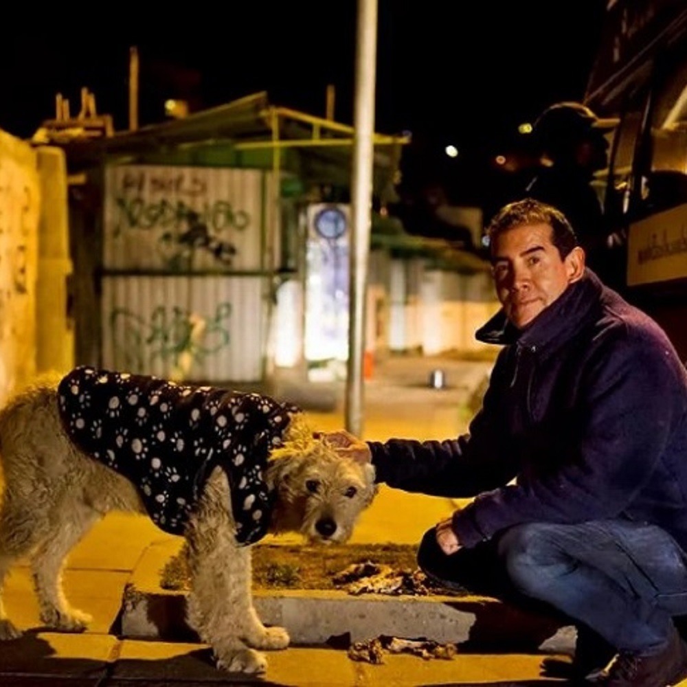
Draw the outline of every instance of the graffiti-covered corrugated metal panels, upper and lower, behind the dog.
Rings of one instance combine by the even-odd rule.
[[[102,362],[173,379],[259,381],[271,256],[272,175],[110,166],[104,203]]]

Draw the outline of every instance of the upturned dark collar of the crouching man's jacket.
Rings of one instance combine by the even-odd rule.
[[[586,269],[581,280],[570,284],[523,330],[508,322],[502,308],[477,330],[475,337],[477,341],[501,346],[518,343],[526,348],[555,350],[596,317],[604,289],[596,274]]]

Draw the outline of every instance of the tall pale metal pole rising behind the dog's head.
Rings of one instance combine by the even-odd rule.
[[[377,0],[359,0],[351,179],[350,327],[345,404],[346,429],[357,436],[363,434],[363,356],[372,207],[376,38]]]

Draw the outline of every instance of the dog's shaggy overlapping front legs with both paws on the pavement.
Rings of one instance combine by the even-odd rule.
[[[192,576],[188,618],[201,640],[212,646],[218,668],[262,673],[267,660],[250,647],[284,649],[289,635],[258,619],[251,596],[251,552],[236,546],[227,504],[226,477],[217,471],[186,532]]]

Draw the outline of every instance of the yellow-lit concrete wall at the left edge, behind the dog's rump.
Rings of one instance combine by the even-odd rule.
[[[0,405],[37,372],[73,363],[63,150],[0,131]]]

